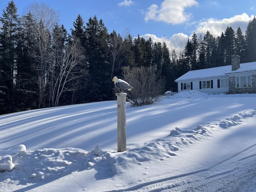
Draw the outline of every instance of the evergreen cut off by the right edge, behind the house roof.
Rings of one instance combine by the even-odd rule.
[[[245,58],[246,62],[256,61],[256,18],[249,22],[245,31]]]

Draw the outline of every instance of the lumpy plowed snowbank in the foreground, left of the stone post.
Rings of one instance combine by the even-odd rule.
[[[86,152],[76,148],[41,149],[26,151],[24,145],[10,150],[0,150],[12,155],[0,156],[0,172],[12,171],[12,180],[22,179],[22,183],[36,183],[40,180],[55,180],[56,177],[66,176],[76,170],[97,168],[109,164],[108,152],[97,145],[94,150]],[[6,174],[7,179],[9,176]]]

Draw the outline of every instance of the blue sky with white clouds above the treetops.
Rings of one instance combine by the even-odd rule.
[[[0,1],[0,14],[9,0]],[[207,30],[219,36],[227,26],[245,32],[256,15],[255,0],[14,0],[18,14],[32,2],[44,2],[59,11],[59,23],[70,31],[80,14],[84,22],[96,16],[102,19],[108,32],[127,31],[153,41],[184,44],[196,32],[204,36]],[[245,34],[245,33],[244,33]]]

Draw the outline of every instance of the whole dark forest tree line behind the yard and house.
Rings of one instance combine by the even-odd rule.
[[[164,90],[177,90],[176,78],[189,70],[229,65],[231,55],[241,62],[256,61],[256,19],[241,28],[227,27],[215,38],[206,32],[185,48],[170,48],[128,30],[108,33],[102,19],[81,15],[71,34],[58,24],[58,12],[32,3],[22,16],[10,1],[0,17],[0,114],[112,100],[112,78],[145,67],[165,80]]]

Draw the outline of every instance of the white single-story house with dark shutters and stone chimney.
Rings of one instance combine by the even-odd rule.
[[[232,65],[192,70],[175,80],[178,92],[256,93],[256,62],[240,64],[232,55]]]

